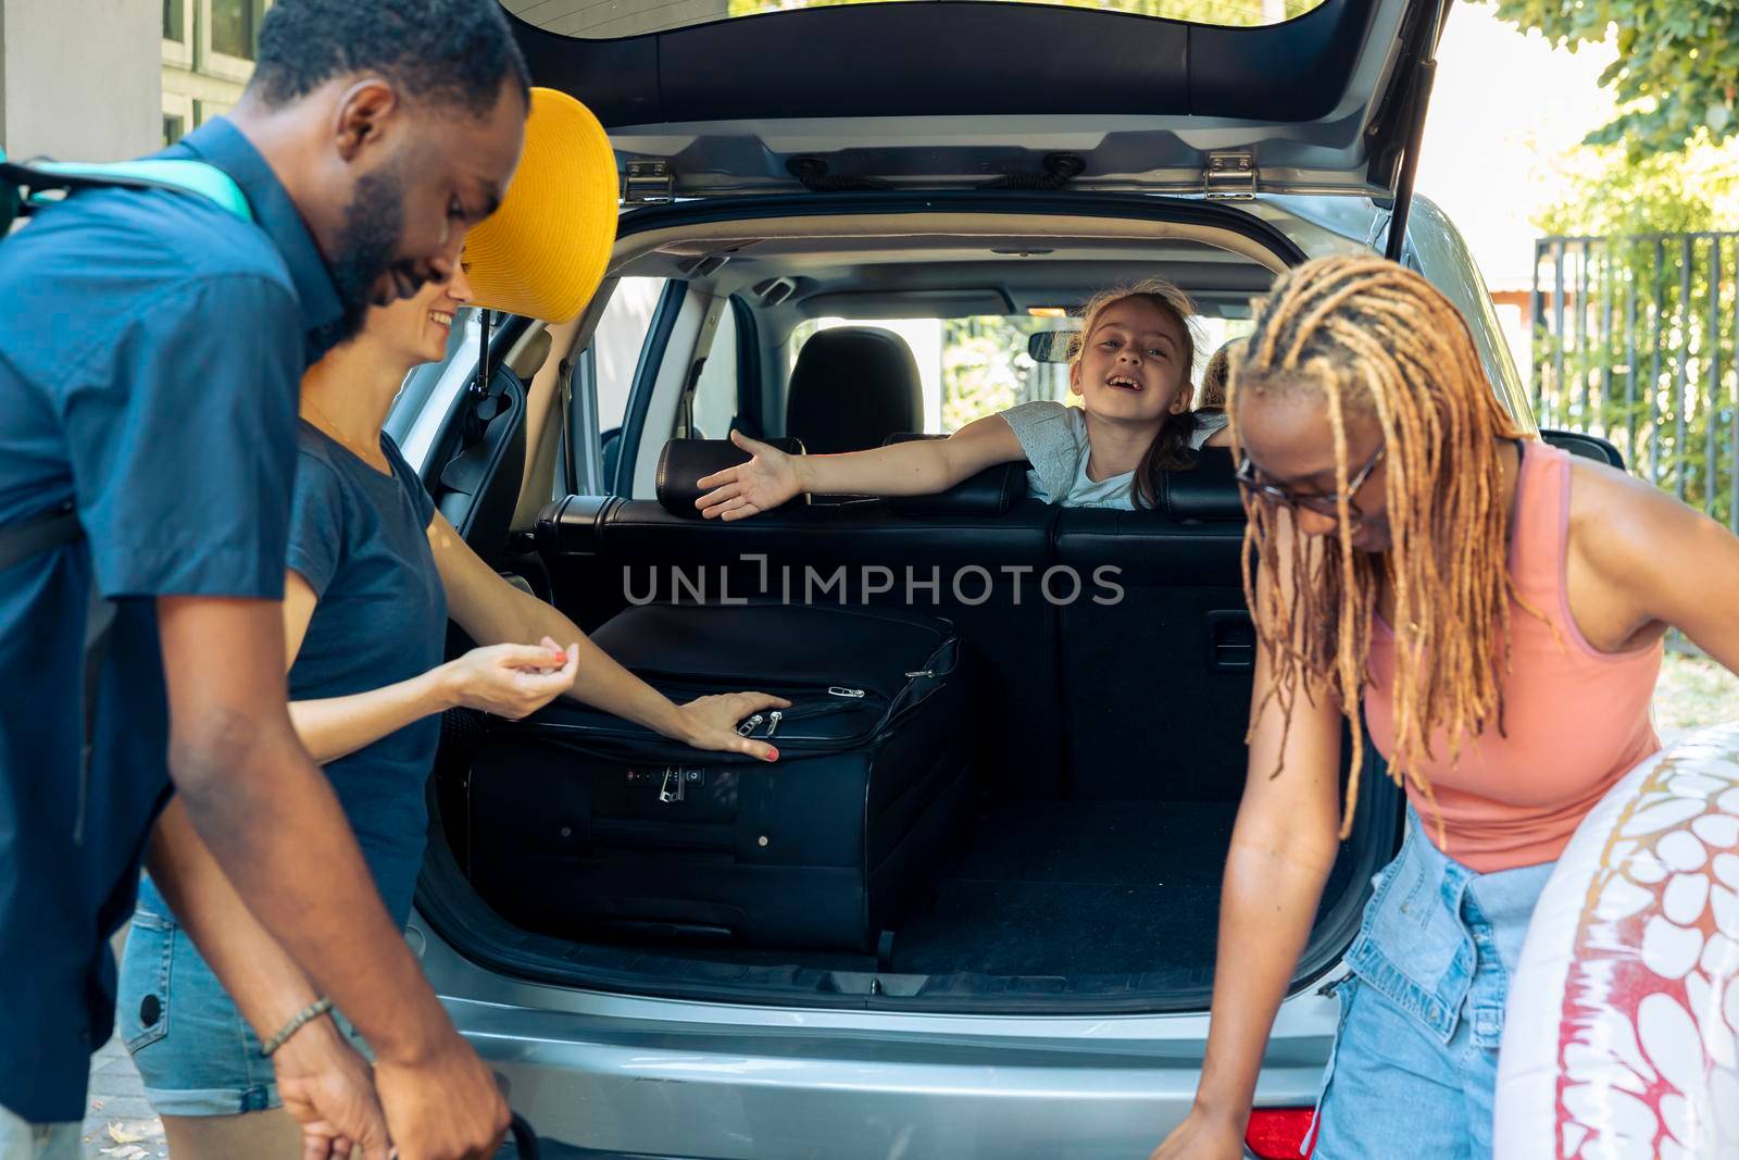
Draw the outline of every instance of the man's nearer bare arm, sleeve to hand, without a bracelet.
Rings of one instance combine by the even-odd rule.
[[[157,602],[169,769],[261,925],[358,1026],[403,1160],[492,1157],[506,1103],[381,904],[350,823],[290,727],[275,600]]]

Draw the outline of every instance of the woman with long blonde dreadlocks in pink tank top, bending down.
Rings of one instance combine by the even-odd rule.
[[[1243,1155],[1365,729],[1409,826],[1348,951],[1315,1155],[1487,1157],[1534,901],[1582,816],[1659,748],[1666,630],[1739,670],[1739,539],[1525,437],[1456,308],[1376,257],[1275,285],[1233,355],[1228,410],[1261,640],[1250,767],[1202,1085],[1155,1160]]]

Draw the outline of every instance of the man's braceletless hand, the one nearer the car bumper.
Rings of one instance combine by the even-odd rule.
[[[456,1031],[419,1063],[376,1063],[374,1089],[398,1160],[490,1160],[508,1134],[508,1101]]]

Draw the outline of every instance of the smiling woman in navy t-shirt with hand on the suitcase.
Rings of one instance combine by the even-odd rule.
[[[461,268],[376,308],[356,339],[303,379],[283,593],[290,718],[400,923],[423,863],[442,710],[518,718],[567,694],[701,750],[776,760],[736,723],[788,704],[758,692],[673,704],[567,616],[501,579],[435,511],[381,423],[405,374],[445,355],[470,296]],[[482,643],[443,664],[449,616]],[[243,1021],[150,882],[120,974],[120,1031],[174,1158],[301,1157],[301,1129],[280,1110],[261,1054],[277,1028]]]

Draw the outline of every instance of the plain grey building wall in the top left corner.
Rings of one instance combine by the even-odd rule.
[[[157,21],[141,0],[0,0],[0,146],[82,162],[155,150]]]

